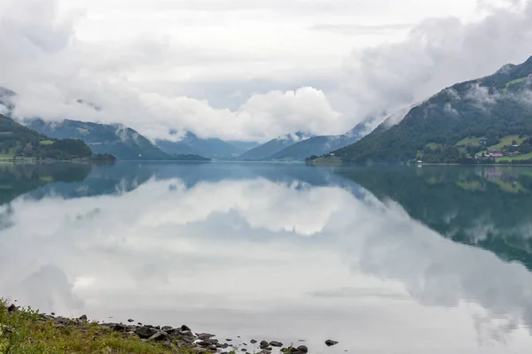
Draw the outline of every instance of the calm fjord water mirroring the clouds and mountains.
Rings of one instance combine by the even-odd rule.
[[[0,165],[0,296],[317,353],[521,353],[531,193],[530,167]]]

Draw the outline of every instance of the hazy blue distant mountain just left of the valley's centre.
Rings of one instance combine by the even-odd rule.
[[[171,134],[177,135],[176,131]],[[157,140],[155,144],[167,154],[196,154],[207,158],[232,158],[242,152],[229,142],[216,138],[202,139],[192,132],[186,132],[176,142]]]

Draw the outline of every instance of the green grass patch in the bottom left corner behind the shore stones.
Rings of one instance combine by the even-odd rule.
[[[43,320],[31,308],[8,312],[0,299],[0,354],[192,354],[188,347],[168,348],[160,343],[143,342],[137,335],[115,332],[97,322],[70,320],[58,327],[54,320]]]

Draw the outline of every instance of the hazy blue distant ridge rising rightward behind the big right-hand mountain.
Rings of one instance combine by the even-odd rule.
[[[332,150],[340,149],[350,143],[356,142],[371,130],[372,119],[356,125],[348,133],[343,135],[314,136],[302,142],[297,142],[286,149],[272,154],[269,160],[304,160],[310,156],[322,156]]]

